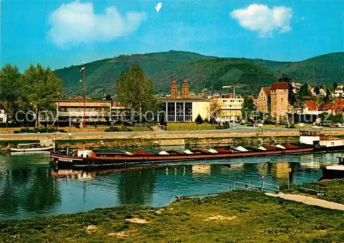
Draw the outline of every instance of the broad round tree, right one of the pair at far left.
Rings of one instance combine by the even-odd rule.
[[[41,111],[52,108],[53,101],[61,97],[63,82],[52,69],[30,65],[23,76],[23,102],[34,112],[35,126],[39,126]]]

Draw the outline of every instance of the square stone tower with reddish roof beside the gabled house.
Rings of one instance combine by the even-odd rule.
[[[285,117],[289,111],[288,82],[275,82],[270,89],[271,117]]]

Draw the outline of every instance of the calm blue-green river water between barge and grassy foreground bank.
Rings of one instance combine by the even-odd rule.
[[[107,174],[52,176],[49,154],[0,154],[0,220],[87,211],[122,204],[163,206],[175,196],[224,192],[235,181],[292,183],[317,181],[335,154],[304,154],[198,161]],[[193,162],[195,163],[195,162]]]

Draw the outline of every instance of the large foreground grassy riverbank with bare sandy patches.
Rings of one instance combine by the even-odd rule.
[[[344,211],[228,192],[0,222],[0,242],[343,242]]]

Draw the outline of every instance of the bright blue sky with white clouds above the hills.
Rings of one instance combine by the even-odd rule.
[[[3,0],[1,66],[56,69],[170,49],[303,60],[344,51],[343,10],[340,0]]]

